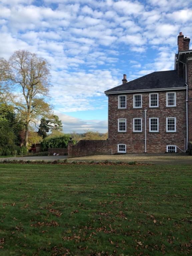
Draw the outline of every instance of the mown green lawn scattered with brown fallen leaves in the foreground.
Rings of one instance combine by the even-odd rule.
[[[191,255],[192,165],[0,164],[0,255]]]

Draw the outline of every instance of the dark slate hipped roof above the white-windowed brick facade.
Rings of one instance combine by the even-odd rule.
[[[185,80],[178,77],[177,70],[158,71],[105,91],[106,94],[121,91],[154,90],[184,87]]]

